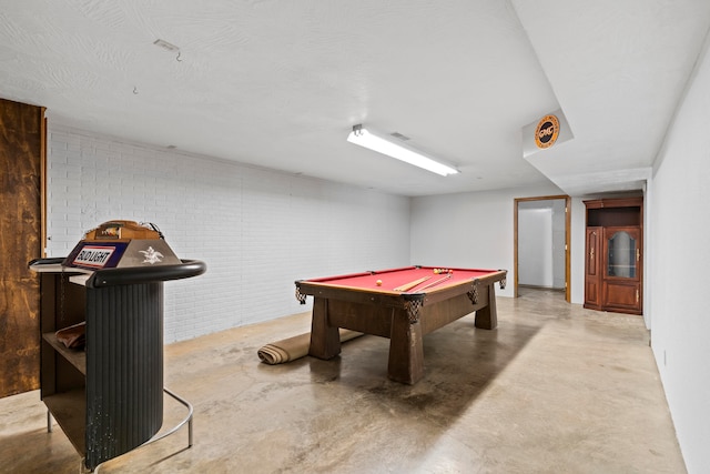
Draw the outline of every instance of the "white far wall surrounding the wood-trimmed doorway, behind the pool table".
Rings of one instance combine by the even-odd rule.
[[[513,296],[515,199],[558,194],[562,192],[549,184],[529,189],[413,198],[412,263],[505,269],[508,270],[509,284],[503,291],[496,288],[496,294]],[[584,230],[581,236],[584,245]],[[584,259],[580,272],[580,280],[584,280]]]

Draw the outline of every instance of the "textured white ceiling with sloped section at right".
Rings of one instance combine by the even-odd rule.
[[[404,195],[579,195],[646,179],[710,1],[0,0],[0,97],[54,123]],[[575,139],[525,160],[556,109]],[[347,143],[357,123],[462,173]]]

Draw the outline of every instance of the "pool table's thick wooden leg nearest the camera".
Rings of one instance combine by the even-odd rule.
[[[407,312],[393,309],[387,375],[395,382],[414,384],[424,376],[422,325],[410,323]]]

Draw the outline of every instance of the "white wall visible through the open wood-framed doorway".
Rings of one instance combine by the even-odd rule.
[[[518,284],[552,286],[552,209],[518,209]]]

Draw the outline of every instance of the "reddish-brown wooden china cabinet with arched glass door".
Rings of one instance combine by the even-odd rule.
[[[585,201],[585,307],[643,311],[643,198]]]

